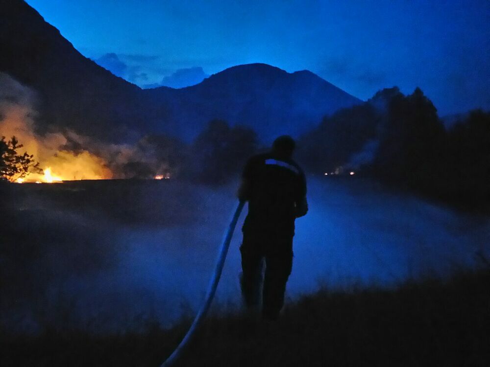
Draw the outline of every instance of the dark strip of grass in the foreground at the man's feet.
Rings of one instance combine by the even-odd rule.
[[[190,320],[171,330],[93,335],[2,333],[0,365],[159,366]],[[490,269],[449,280],[358,289],[288,304],[280,321],[208,319],[178,366],[490,366]]]

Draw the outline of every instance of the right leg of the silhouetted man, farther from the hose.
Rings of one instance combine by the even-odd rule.
[[[283,251],[266,256],[266,275],[263,290],[262,315],[265,319],[276,320],[284,304],[286,283],[293,267],[291,241],[285,241]]]

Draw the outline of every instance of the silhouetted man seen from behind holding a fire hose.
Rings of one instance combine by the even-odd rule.
[[[293,265],[294,220],[308,211],[306,179],[292,160],[294,147],[293,138],[281,136],[269,153],[250,158],[238,192],[240,200],[248,201],[240,247],[242,295],[248,308],[258,305],[265,259],[262,316],[268,320],[276,320],[284,304]]]

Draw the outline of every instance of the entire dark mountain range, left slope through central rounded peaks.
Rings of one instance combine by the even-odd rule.
[[[182,89],[141,90],[81,55],[22,0],[0,0],[0,71],[39,93],[49,125],[111,141],[142,133],[189,140],[211,119],[255,129],[269,140],[298,136],[324,115],[361,101],[310,71],[236,66]]]

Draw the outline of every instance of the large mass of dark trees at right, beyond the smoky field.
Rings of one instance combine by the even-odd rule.
[[[461,208],[490,211],[490,113],[472,111],[446,131],[419,88],[409,95],[396,87],[379,91],[325,117],[298,145],[310,172],[355,168]],[[356,160],[362,154],[368,158]]]

